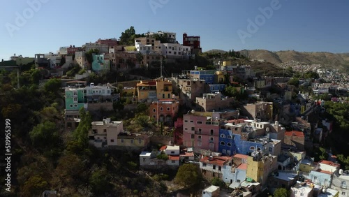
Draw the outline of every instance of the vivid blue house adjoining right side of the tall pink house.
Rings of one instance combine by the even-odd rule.
[[[232,133],[231,130],[220,129],[218,139],[218,152],[225,155],[248,155],[254,151],[265,151],[265,146],[262,143],[242,140],[240,135]]]

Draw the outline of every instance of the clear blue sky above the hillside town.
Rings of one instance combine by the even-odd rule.
[[[16,0],[1,8],[5,60],[119,38],[131,26],[175,32],[179,43],[184,32],[201,36],[203,51],[349,52],[348,0]]]

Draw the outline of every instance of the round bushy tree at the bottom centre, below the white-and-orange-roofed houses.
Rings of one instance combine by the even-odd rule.
[[[174,177],[174,182],[182,187],[193,187],[195,184],[199,184],[201,180],[202,176],[198,167],[190,163],[180,166],[176,177]]]

